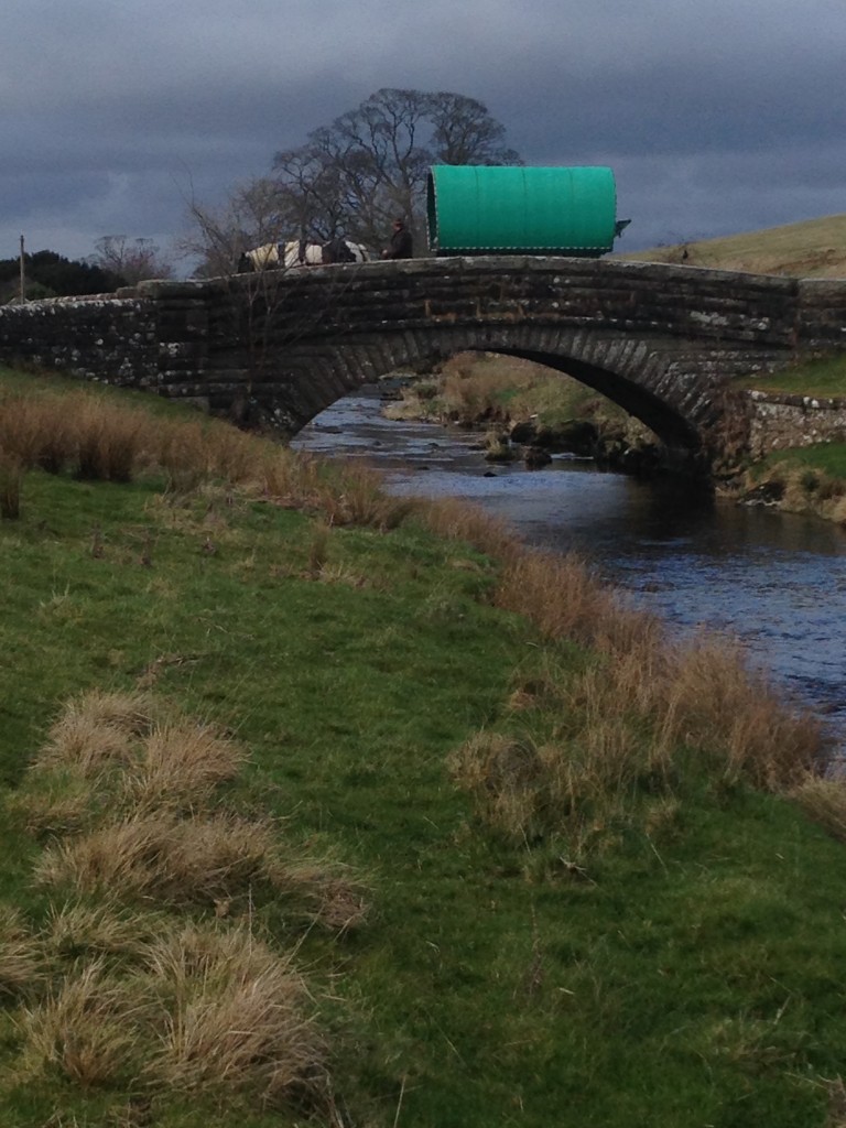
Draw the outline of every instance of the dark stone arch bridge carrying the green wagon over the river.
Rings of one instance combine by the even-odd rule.
[[[201,403],[293,434],[362,384],[465,350],[539,361],[707,460],[730,381],[846,349],[846,281],[618,259],[429,258],[146,282],[0,311],[0,360]]]

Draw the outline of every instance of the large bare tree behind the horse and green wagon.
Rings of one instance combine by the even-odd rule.
[[[267,243],[346,237],[378,253],[403,215],[424,246],[431,165],[519,165],[505,129],[461,94],[382,89],[306,142],[277,152],[273,173],[238,186],[221,208],[188,201],[182,249],[197,273],[220,276],[244,250]]]

